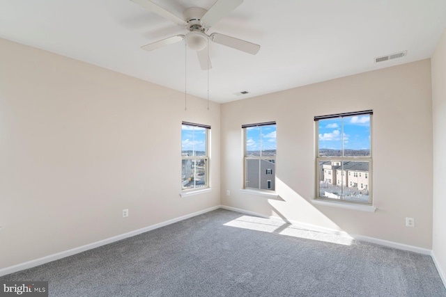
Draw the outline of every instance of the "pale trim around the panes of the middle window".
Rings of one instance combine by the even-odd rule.
[[[270,125],[275,125],[276,126],[276,131],[277,131],[277,123],[275,121],[273,122],[261,122],[261,123],[256,123],[256,124],[247,124],[247,125],[242,125],[242,136],[243,136],[243,183],[242,183],[242,188],[240,191],[244,191],[245,193],[259,193],[259,194],[266,194],[266,195],[276,195],[276,190],[270,190],[270,189],[263,189],[260,188],[261,186],[261,181],[260,181],[260,174],[261,174],[261,166],[259,165],[259,188],[249,188],[246,186],[246,174],[247,174],[247,169],[246,169],[246,164],[247,164],[247,160],[274,160],[274,166],[277,166],[277,162],[276,162],[276,157],[277,157],[277,147],[276,147],[276,156],[255,156],[255,157],[249,157],[247,156],[247,145],[246,145],[246,141],[247,141],[247,133],[246,133],[246,129],[250,128],[250,127],[263,127],[263,126],[270,126]],[[277,139],[277,138],[276,138]],[[275,168],[276,169],[276,168]],[[274,175],[274,180],[276,179],[276,175],[275,175],[275,171],[277,170],[272,170],[272,175]],[[269,179],[272,181],[272,179]],[[276,184],[276,183],[275,183]]]

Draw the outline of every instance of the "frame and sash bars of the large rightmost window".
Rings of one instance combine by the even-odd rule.
[[[316,118],[319,118],[319,120],[323,120],[323,118],[346,118],[346,117],[351,117],[353,115],[369,115],[370,116],[370,156],[319,156],[319,125],[318,125],[318,120],[316,120]],[[360,205],[373,205],[373,184],[372,184],[372,168],[373,168],[373,163],[372,163],[372,154],[373,154],[373,134],[372,134],[372,129],[373,129],[373,111],[358,111],[358,112],[354,112],[354,113],[339,113],[337,115],[325,115],[325,116],[321,116],[321,117],[315,117],[314,120],[314,125],[315,125],[315,129],[314,131],[316,132],[315,134],[315,148],[316,148],[316,198],[315,200],[320,200],[320,201],[329,201],[329,202],[339,202],[341,204],[360,204]],[[342,132],[341,135],[344,134],[344,124],[342,127]],[[344,143],[344,141],[343,141]],[[344,154],[344,147],[342,148],[342,153]],[[344,161],[367,161],[369,162],[369,172],[368,172],[368,180],[369,180],[369,186],[367,188],[367,190],[369,191],[369,201],[368,202],[360,202],[360,201],[348,201],[348,200],[339,200],[339,199],[333,199],[333,198],[328,198],[328,197],[323,197],[320,195],[319,191],[320,191],[320,185],[319,185],[319,180],[320,180],[320,170],[319,170],[319,163],[321,161],[339,161],[341,162],[341,170],[344,171]],[[367,174],[367,173],[366,173]],[[348,175],[350,175],[350,171],[348,172]],[[353,172],[353,177],[358,177],[357,172]],[[355,179],[357,181],[357,179]],[[330,182],[330,181],[329,181]],[[341,182],[341,184],[343,184]],[[357,187],[357,182],[353,182],[353,184]],[[347,186],[347,184],[346,184]]]

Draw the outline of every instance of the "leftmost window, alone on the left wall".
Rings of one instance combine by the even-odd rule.
[[[183,122],[181,125],[181,189],[208,188],[208,139],[210,126]]]

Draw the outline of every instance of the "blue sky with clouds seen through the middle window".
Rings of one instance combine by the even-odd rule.
[[[275,150],[276,126],[246,128],[246,150]]]

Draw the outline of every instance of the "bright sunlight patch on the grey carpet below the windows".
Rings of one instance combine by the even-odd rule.
[[[312,230],[305,230],[298,226],[270,220],[268,218],[258,218],[254,216],[240,216],[224,224],[229,227],[237,227],[247,230],[255,230],[280,235],[298,237],[301,239],[310,239],[329,243],[336,243],[343,246],[351,246],[353,238],[348,235],[329,234]]]

